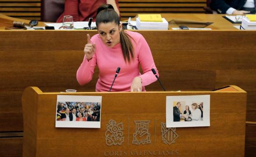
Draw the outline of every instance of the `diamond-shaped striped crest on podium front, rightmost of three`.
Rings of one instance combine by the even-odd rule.
[[[175,140],[179,137],[176,133],[176,128],[166,128],[165,123],[161,123],[162,141],[165,144],[174,144]]]

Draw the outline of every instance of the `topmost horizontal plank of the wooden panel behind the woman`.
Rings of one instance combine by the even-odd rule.
[[[0,44],[2,51],[11,50],[27,50],[27,51],[82,51],[87,37],[86,33],[94,35],[96,31],[15,31],[15,34],[21,35],[22,38],[33,40],[32,44],[22,38],[15,38],[13,31],[0,31]],[[237,51],[251,51],[254,48],[253,42],[248,42],[247,39],[240,39],[238,44],[237,38],[241,35],[246,35],[249,40],[254,41],[254,31],[137,31],[141,33],[149,43],[151,51],[153,50],[215,50],[231,51],[236,54]],[[217,34],[217,35],[215,35]],[[63,41],[66,35],[71,35],[72,44],[70,41]],[[210,36],[210,38],[209,38]],[[227,45],[227,37],[230,42]],[[13,38],[11,38],[13,37]],[[51,44],[54,39],[55,44]],[[158,42],[155,42],[158,41]],[[193,42],[192,42],[193,41]],[[11,42],[11,44],[10,44]],[[40,44],[39,44],[40,43]],[[246,45],[240,46],[240,45]],[[59,46],[56,46],[59,45]],[[213,51],[214,52],[214,51]],[[219,58],[221,59],[221,58]],[[238,60],[239,61],[239,60]],[[253,64],[252,64],[253,65]]]

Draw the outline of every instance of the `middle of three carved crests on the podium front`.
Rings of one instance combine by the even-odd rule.
[[[134,121],[136,124],[136,130],[133,134],[133,144],[151,144],[149,133],[150,121]]]

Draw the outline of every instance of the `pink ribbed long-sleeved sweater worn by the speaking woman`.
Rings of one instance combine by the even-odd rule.
[[[155,67],[155,63],[144,37],[136,32],[126,31],[134,40],[131,39],[134,47],[134,61],[130,64],[126,63],[123,58],[121,44],[117,44],[112,48],[108,48],[102,42],[98,34],[91,37],[91,43],[96,44],[96,51],[91,60],[84,57],[80,65],[76,78],[80,85],[87,84],[92,79],[94,67],[97,65],[99,69],[99,78],[96,84],[96,91],[109,91],[109,88],[114,80],[114,75],[117,67],[121,70],[114,82],[111,91],[130,91],[130,86],[133,78],[139,76],[142,78],[142,91],[145,91],[144,86],[155,82],[157,79],[153,75],[151,69]],[[143,74],[139,73],[139,64],[141,65]]]

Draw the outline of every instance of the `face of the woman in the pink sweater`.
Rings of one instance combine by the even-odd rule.
[[[100,23],[98,24],[98,33],[103,43],[112,48],[116,44],[120,43],[120,31],[122,24],[119,26],[114,22]]]

